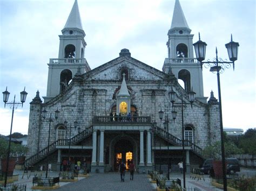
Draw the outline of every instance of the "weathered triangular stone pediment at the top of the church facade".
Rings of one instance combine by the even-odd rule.
[[[167,75],[131,56],[119,56],[85,73],[84,78],[96,81],[120,81],[123,79],[121,74],[123,68],[129,71],[129,81],[158,81],[163,80]]]

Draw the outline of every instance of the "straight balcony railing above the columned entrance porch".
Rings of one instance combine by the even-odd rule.
[[[151,118],[144,116],[95,116],[93,117],[93,124],[151,124]]]

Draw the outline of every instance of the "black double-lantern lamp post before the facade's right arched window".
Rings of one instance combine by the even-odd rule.
[[[186,164],[186,161],[185,161],[185,144],[184,144],[184,111],[183,111],[183,105],[191,104],[191,107],[192,107],[192,103],[194,102],[194,95],[195,94],[196,93],[194,93],[193,88],[192,88],[192,90],[190,92],[188,92],[188,97],[189,97],[190,103],[185,103],[184,102],[182,94],[181,94],[181,103],[174,103],[175,98],[176,98],[176,93],[175,93],[175,91],[173,91],[173,89],[171,89],[171,91],[169,92],[169,98],[170,98],[170,101],[172,102],[172,107],[173,107],[174,104],[181,105],[183,165]],[[186,172],[185,172],[184,169],[183,169],[183,187],[186,188]]]

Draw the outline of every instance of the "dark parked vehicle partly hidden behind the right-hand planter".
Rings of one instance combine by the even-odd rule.
[[[213,159],[206,159],[201,170],[205,174],[210,174],[212,169]],[[227,163],[227,174],[234,174],[235,172],[240,172],[240,165],[237,158],[226,158]]]

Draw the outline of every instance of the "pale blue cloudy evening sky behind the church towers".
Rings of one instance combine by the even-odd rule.
[[[0,0],[0,86],[9,102],[28,97],[15,110],[12,132],[28,133],[29,107],[39,90],[46,96],[50,58],[58,58],[59,37],[75,0]],[[86,37],[85,58],[91,69],[119,56],[131,56],[161,70],[175,0],[78,0]],[[180,0],[193,43],[207,43],[206,60],[228,59],[225,44],[238,42],[235,69],[220,74],[224,128],[256,128],[255,0]],[[217,75],[203,67],[204,96],[218,99]],[[2,97],[2,95],[1,95]],[[0,104],[0,134],[9,135],[11,109]]]

